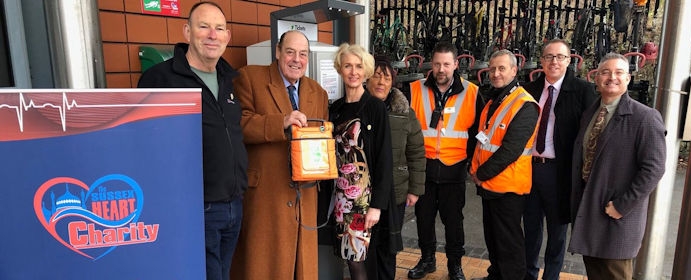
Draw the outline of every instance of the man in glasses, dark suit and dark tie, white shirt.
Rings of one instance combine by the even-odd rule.
[[[525,86],[541,111],[533,146],[533,187],[523,212],[525,279],[530,280],[536,280],[540,270],[545,220],[547,247],[542,279],[559,279],[569,223],[573,142],[583,111],[596,98],[593,85],[576,78],[568,69],[569,55],[570,47],[564,40],[547,42],[540,57],[543,74]]]

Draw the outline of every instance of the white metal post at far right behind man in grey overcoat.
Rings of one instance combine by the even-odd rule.
[[[662,114],[667,130],[667,160],[665,174],[662,176],[657,189],[650,197],[648,208],[648,223],[641,250],[636,258],[634,279],[661,279],[664,268],[667,227],[673,196],[674,177],[676,175],[679,146],[681,142],[680,127],[682,127],[682,112],[684,104],[685,83],[689,76],[691,49],[688,40],[691,29],[688,28],[689,8],[691,4],[684,0],[665,1],[665,15],[662,20],[662,38],[660,42],[660,64],[657,66],[655,87],[655,108]],[[686,23],[684,23],[686,22]],[[688,182],[686,182],[688,191]],[[688,234],[682,226],[688,222],[684,209],[681,210],[680,238],[686,239]],[[686,248],[688,250],[688,247]],[[677,249],[679,250],[679,249]],[[676,260],[675,260],[676,262]],[[676,264],[673,268],[677,270]],[[687,277],[672,279],[688,279]]]

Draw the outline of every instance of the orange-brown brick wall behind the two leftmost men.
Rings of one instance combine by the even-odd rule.
[[[223,8],[231,38],[223,57],[235,68],[247,64],[245,48],[270,39],[269,14],[314,0],[213,0]],[[136,87],[141,75],[139,46],[184,42],[182,27],[199,0],[179,0],[180,17],[143,14],[141,0],[98,0],[106,82],[109,88]],[[332,24],[319,24],[319,41],[333,44]]]

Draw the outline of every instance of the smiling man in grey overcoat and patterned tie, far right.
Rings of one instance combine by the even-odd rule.
[[[574,144],[569,252],[588,279],[631,279],[648,198],[665,172],[660,113],[631,99],[628,60],[607,54],[595,79],[601,99],[583,113]]]

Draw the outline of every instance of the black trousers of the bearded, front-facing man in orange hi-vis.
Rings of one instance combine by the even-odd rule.
[[[446,256],[460,259],[465,255],[463,206],[465,206],[465,172],[458,183],[437,184],[427,181],[425,194],[415,204],[418,246],[422,256],[434,255],[437,247],[435,222],[437,212],[444,224]]]

